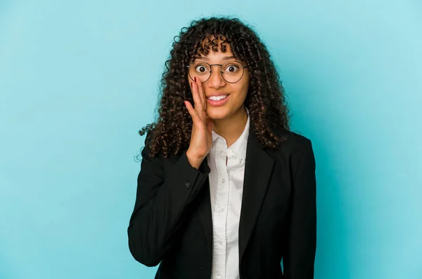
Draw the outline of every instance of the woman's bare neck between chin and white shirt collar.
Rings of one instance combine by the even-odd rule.
[[[242,135],[247,121],[248,114],[245,111],[245,107],[242,106],[238,111],[227,118],[213,120],[213,130],[217,132],[218,135],[224,137],[227,142],[227,147],[230,147],[231,144],[234,144]]]

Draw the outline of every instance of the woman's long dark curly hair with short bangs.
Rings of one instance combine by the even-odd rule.
[[[162,74],[158,119],[139,130],[148,132],[146,142],[150,155],[160,151],[166,158],[180,154],[188,147],[191,138],[192,118],[184,107],[184,100],[193,104],[187,79],[187,66],[200,55],[220,50],[226,52],[229,44],[234,57],[248,64],[249,90],[245,99],[251,131],[258,140],[271,149],[278,148],[284,138],[276,130],[289,128],[288,106],[284,89],[269,51],[251,27],[238,18],[203,18],[193,20],[174,37],[170,59],[165,62]],[[151,131],[151,133],[149,133]]]

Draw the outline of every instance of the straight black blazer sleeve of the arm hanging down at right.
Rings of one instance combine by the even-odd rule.
[[[302,145],[302,144],[301,144]],[[286,279],[314,278],[316,252],[316,177],[312,143],[306,139],[292,155],[290,226],[283,268]]]

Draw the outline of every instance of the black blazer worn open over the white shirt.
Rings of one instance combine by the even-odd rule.
[[[312,143],[280,130],[279,149],[248,137],[241,219],[241,279],[314,278],[316,179]],[[129,250],[155,278],[210,279],[212,217],[206,159],[193,168],[186,150],[151,157],[142,150],[136,202],[127,229]],[[281,271],[283,259],[283,272]],[[234,279],[234,278],[226,278]]]

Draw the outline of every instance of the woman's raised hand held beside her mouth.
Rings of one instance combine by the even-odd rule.
[[[184,102],[193,120],[191,142],[188,151],[186,151],[186,156],[189,163],[198,169],[212,147],[213,123],[211,118],[207,118],[205,112],[207,99],[200,79],[195,78],[195,82],[191,83],[191,90],[195,108],[192,107],[190,102]]]

